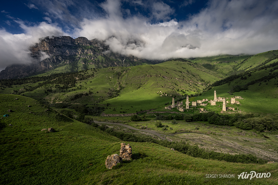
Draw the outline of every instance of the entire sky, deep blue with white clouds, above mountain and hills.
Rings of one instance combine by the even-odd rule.
[[[111,51],[169,59],[276,50],[276,0],[19,0],[0,7],[0,70],[32,61],[39,38],[98,38]]]

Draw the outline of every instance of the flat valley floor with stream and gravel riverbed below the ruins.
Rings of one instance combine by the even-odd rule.
[[[235,127],[211,125],[206,122],[162,121],[162,127],[155,127],[154,121],[108,124],[115,131],[145,134],[156,139],[186,141],[206,150],[229,154],[253,154],[268,161],[278,162],[278,134],[258,133],[254,130],[240,130]],[[168,125],[163,131],[164,125]],[[128,127],[128,128],[127,128]],[[170,127],[172,129],[170,129]]]

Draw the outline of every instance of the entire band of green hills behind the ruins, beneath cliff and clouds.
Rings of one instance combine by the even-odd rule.
[[[106,114],[120,114],[149,109],[163,111],[172,97],[187,94],[190,101],[210,100],[216,89],[221,97],[244,98],[238,105],[227,105],[236,110],[276,113],[277,55],[278,51],[273,50],[253,56],[219,55],[191,61],[175,59],[155,65],[59,73],[67,72],[64,66],[55,69],[56,72],[30,78],[1,80],[0,93],[25,95],[49,106],[57,103],[100,106],[105,108]],[[221,107],[209,105],[205,109],[221,111]]]

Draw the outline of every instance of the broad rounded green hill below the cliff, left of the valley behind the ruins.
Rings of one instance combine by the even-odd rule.
[[[46,104],[111,104],[112,109],[105,110],[105,113],[114,112],[114,108],[119,113],[120,107],[126,113],[133,113],[141,109],[164,108],[165,103],[172,101],[169,95],[200,94],[222,77],[217,72],[180,59],[156,65],[94,68],[69,75],[2,80],[0,92],[25,95]],[[161,93],[157,94],[160,91],[163,97],[160,97]]]

